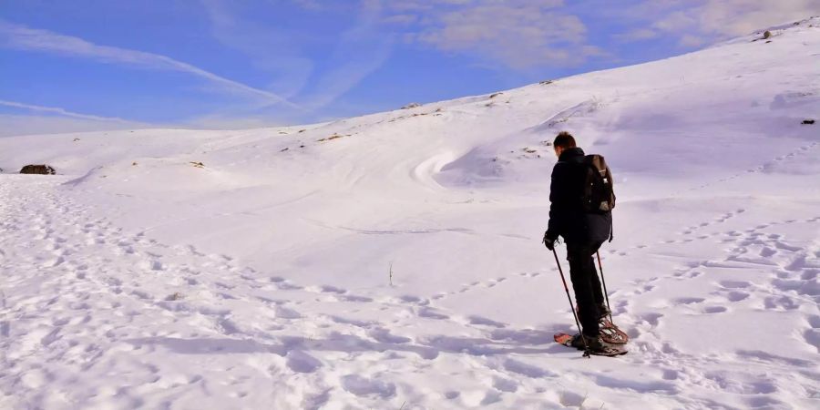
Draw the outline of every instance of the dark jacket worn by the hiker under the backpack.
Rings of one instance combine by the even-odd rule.
[[[588,167],[584,156],[583,149],[564,149],[552,169],[547,236],[554,240],[560,235],[568,244],[597,248],[610,238],[612,214],[584,211],[582,198]]]

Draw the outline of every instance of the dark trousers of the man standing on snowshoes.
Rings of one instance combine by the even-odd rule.
[[[575,302],[578,303],[578,316],[583,333],[598,336],[598,306],[604,304],[604,295],[600,290],[598,271],[592,256],[600,248],[600,243],[573,244],[567,243],[567,260],[569,261],[569,279],[575,291]]]

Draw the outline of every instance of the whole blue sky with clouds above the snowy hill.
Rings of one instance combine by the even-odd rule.
[[[818,0],[0,3],[0,135],[350,117],[679,55]]]

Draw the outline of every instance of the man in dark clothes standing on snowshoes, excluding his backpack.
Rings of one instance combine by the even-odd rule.
[[[584,151],[576,146],[569,132],[561,132],[552,143],[559,160],[552,169],[549,187],[549,221],[544,244],[553,251],[559,237],[567,246],[569,278],[578,304],[582,335],[589,349],[600,350],[600,319],[609,314],[601,292],[598,272],[592,256],[610,239],[610,212],[589,213],[583,207],[583,190],[589,165]]]

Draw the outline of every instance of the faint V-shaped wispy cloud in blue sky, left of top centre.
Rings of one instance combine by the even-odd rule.
[[[271,87],[315,111],[333,104],[390,56],[393,36],[379,31],[381,2],[321,3],[292,0],[308,13],[355,13],[353,24],[334,37],[327,61],[317,64],[302,50],[304,32],[275,24],[260,25],[243,16],[231,2],[201,0],[210,17],[213,36],[251,57],[251,64],[272,75]],[[270,5],[268,5],[270,6]],[[327,68],[321,68],[321,67]]]

